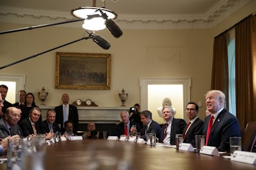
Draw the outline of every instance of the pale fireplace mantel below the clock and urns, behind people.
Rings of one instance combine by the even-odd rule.
[[[39,106],[42,110],[42,120],[45,120],[46,112],[49,109],[54,109],[54,106]],[[129,110],[129,108],[111,108],[111,107],[77,107],[79,115],[79,124],[118,124],[120,123],[120,112]]]

